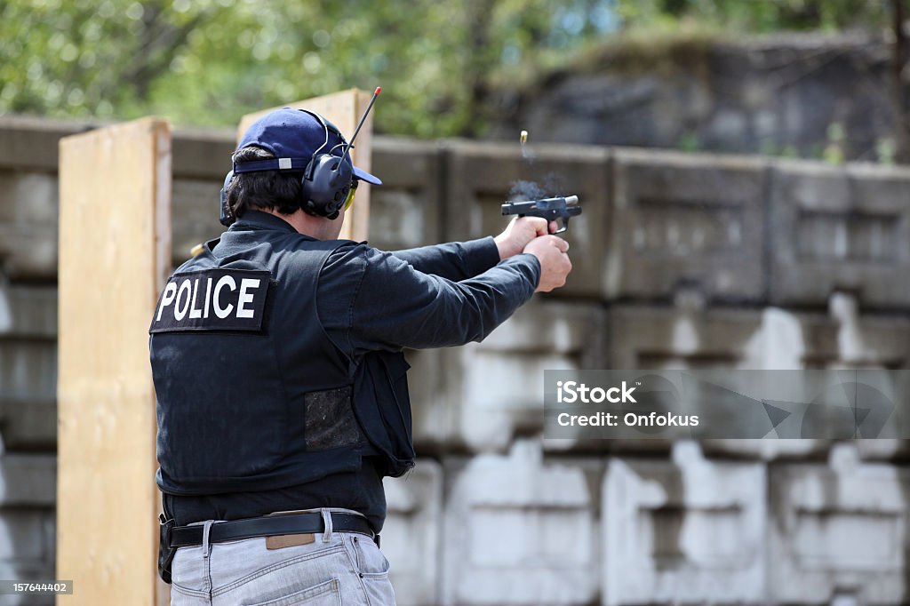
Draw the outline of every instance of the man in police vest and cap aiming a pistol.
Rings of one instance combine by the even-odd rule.
[[[414,464],[401,349],[485,338],[571,270],[534,217],[396,253],[338,240],[359,180],[380,184],[347,149],[301,110],[250,126],[222,192],[236,222],[158,301],[173,604],[394,603],[379,530],[383,476]]]

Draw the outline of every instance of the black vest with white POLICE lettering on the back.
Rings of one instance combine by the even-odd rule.
[[[350,360],[319,322],[319,271],[344,241],[227,231],[217,256],[216,243],[167,281],[149,328],[161,490],[275,490],[365,456],[384,475],[413,467],[404,356]]]

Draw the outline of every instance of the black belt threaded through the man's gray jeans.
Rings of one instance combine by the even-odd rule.
[[[352,513],[332,513],[332,531],[362,532],[379,538],[362,516]],[[202,544],[203,524],[177,526],[170,531],[171,547],[196,547]],[[208,530],[208,542],[221,543],[226,540],[274,537],[282,534],[311,534],[324,532],[325,523],[321,513],[292,513],[287,515],[263,516],[246,520],[233,520],[212,524]]]

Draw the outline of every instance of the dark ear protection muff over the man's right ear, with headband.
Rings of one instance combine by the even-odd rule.
[[[300,206],[304,212],[310,215],[334,219],[339,216],[341,208],[348,199],[351,180],[354,177],[354,166],[348,157],[336,156],[332,152],[338,147],[344,150],[348,146],[348,142],[339,129],[324,117],[306,109],[300,111],[319,120],[319,124],[326,132],[325,141],[309,158],[307,168],[300,179],[300,186],[303,190],[303,202]],[[326,147],[329,146],[329,133],[338,136],[341,143],[326,150]]]

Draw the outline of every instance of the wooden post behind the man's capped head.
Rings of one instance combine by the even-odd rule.
[[[372,94],[352,88],[350,90],[332,93],[326,96],[317,96],[304,101],[288,103],[281,107],[298,107],[308,109],[326,117],[329,122],[339,127],[341,134],[348,139],[354,135],[354,129],[360,116],[369,105],[369,98]],[[378,104],[379,105],[379,102]],[[238,141],[246,132],[249,125],[253,124],[259,117],[268,114],[268,112],[279,109],[271,107],[260,112],[248,114],[240,119],[238,126]],[[373,111],[376,111],[373,107]],[[354,142],[354,148],[350,150],[350,157],[354,164],[369,172],[372,164],[372,139],[373,139],[373,116],[372,112],[360,129],[357,141]],[[379,177],[381,178],[381,177]],[[341,236],[351,240],[362,241],[367,239],[369,233],[369,184],[361,183],[357,188],[357,196],[354,198],[354,204],[345,213],[344,227],[341,230]]]

